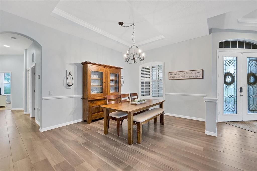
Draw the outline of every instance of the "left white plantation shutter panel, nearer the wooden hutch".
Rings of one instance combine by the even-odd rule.
[[[141,96],[150,96],[150,67],[142,67],[140,69],[140,72]]]

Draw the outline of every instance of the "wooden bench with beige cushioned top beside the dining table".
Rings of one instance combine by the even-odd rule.
[[[161,124],[164,125],[164,111],[165,110],[162,108],[154,108],[134,116],[133,120],[134,125],[136,125],[138,144],[140,144],[142,141],[142,125],[144,125],[152,119],[154,119],[154,123],[156,123],[158,116],[160,116]]]

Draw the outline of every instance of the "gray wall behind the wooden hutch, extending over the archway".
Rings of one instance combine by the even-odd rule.
[[[123,67],[121,75],[124,77],[124,85],[121,92],[131,91],[130,85],[135,88],[133,82],[138,82],[138,79],[134,79],[138,68],[134,70],[132,64],[125,63],[121,52],[4,11],[1,11],[0,17],[1,23],[5,23],[0,25],[1,32],[24,34],[42,46],[42,98],[82,95],[81,62],[84,61]],[[27,54],[31,55],[29,49]],[[38,65],[36,66],[38,68]],[[74,85],[71,89],[65,87],[65,70],[72,71]],[[138,89],[138,86],[135,89]],[[49,96],[49,91],[53,92],[52,96]],[[81,97],[46,100],[42,98],[41,128],[82,119]]]

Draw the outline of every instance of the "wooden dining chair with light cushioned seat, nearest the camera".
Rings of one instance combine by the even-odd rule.
[[[106,101],[107,101],[107,105],[119,103],[118,95],[107,95]],[[109,113],[107,130],[109,130],[110,119],[116,120],[117,121],[117,132],[118,132],[118,136],[120,136],[120,121],[121,121],[121,125],[122,125],[123,119],[127,119],[127,117],[128,117],[127,113],[123,113],[123,112],[115,111],[115,112]]]

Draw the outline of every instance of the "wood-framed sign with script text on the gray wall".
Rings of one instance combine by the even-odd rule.
[[[169,72],[169,80],[203,79],[204,70]]]

